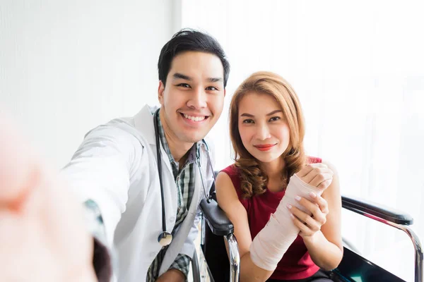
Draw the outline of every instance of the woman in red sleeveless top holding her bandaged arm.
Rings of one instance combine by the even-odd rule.
[[[305,157],[304,135],[298,96],[281,76],[253,73],[232,96],[235,164],[218,174],[216,196],[234,225],[240,281],[331,281],[326,271],[341,261],[338,176]]]

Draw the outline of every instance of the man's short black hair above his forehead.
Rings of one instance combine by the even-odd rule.
[[[159,80],[163,82],[163,85],[166,84],[166,77],[170,72],[172,59],[184,51],[201,51],[218,56],[224,68],[224,87],[227,86],[230,63],[226,59],[224,50],[211,35],[189,28],[184,28],[175,33],[160,51],[158,72]]]

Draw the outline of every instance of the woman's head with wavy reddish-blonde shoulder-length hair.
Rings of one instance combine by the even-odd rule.
[[[230,104],[230,138],[237,166],[251,167],[254,157],[267,173],[279,173],[285,166],[287,179],[305,163],[304,135],[298,96],[283,78],[274,73],[254,73],[237,88]],[[274,146],[263,154],[258,149],[261,145]],[[249,177],[249,171],[243,175],[247,186],[254,183],[253,190],[263,189],[265,178]]]

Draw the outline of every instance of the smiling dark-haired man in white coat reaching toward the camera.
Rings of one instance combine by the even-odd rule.
[[[177,32],[160,52],[160,108],[90,130],[60,181],[1,125],[0,281],[187,280],[200,173],[207,187],[213,179],[202,140],[229,71],[216,39]]]

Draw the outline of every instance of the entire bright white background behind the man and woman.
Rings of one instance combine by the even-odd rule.
[[[408,212],[423,235],[423,14],[422,1],[0,0],[0,111],[60,168],[95,125],[157,104],[161,47],[200,28],[232,66],[216,169],[232,162],[235,87],[275,71],[302,102],[308,154],[336,165],[342,193]],[[343,216],[366,257],[412,280],[406,235]]]

